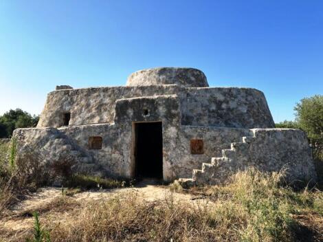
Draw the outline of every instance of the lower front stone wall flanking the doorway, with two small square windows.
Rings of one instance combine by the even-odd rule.
[[[126,101],[137,102],[137,104],[129,103],[129,107],[138,107],[140,110],[142,103],[147,104],[147,100],[124,100]],[[173,105],[170,106],[173,107]],[[173,110],[176,109],[178,107]],[[179,127],[170,124],[172,120],[168,121],[160,115],[152,114],[151,120],[156,119],[162,120],[163,124],[163,173],[166,181],[179,177],[191,177],[194,168],[200,167],[203,162],[209,162],[211,157],[221,153],[222,148],[230,147],[231,142],[241,141],[243,135],[250,133],[248,129]],[[151,121],[149,117],[137,117],[135,120],[137,122]],[[78,161],[79,172],[126,178],[132,178],[134,175],[134,160],[131,156],[133,135],[131,121],[69,126],[61,129],[33,128],[14,131],[14,137],[19,138],[20,144],[43,154],[44,162],[52,162],[58,158],[59,154],[65,152],[73,155]],[[93,136],[102,137],[102,149],[89,149],[89,137]],[[194,138],[203,140],[204,153],[202,155],[190,153],[190,140]]]

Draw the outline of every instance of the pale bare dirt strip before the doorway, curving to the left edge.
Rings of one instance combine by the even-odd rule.
[[[169,188],[153,184],[152,181],[142,181],[133,188],[102,189],[77,192],[72,195],[72,197],[74,201],[84,203],[91,200],[109,199],[115,195],[122,195],[130,192],[135,192],[135,194],[144,201],[161,201],[172,199],[174,202],[188,201],[189,203],[192,203],[192,206],[197,203],[209,203],[209,201],[199,199],[197,196],[171,192]],[[23,233],[24,230],[30,230],[34,223],[34,219],[31,214],[32,211],[41,210],[41,208],[51,203],[51,201],[61,195],[62,188],[46,187],[39,189],[37,192],[28,195],[23,201],[16,203],[16,205],[8,211],[8,215],[0,220],[0,228],[2,228],[2,232],[5,231],[5,233],[7,233],[5,236],[2,234],[2,237],[8,238],[9,236],[14,238],[15,236],[19,236],[19,234]]]

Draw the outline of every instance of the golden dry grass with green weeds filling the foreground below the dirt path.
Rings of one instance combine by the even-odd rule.
[[[175,202],[172,194],[148,202],[130,192],[64,213],[45,209],[41,221],[52,241],[322,241],[322,192],[294,192],[278,181],[249,170],[226,186],[194,188],[212,206]]]

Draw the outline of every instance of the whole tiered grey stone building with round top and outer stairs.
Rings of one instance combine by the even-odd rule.
[[[256,166],[315,180],[307,136],[274,129],[263,92],[208,87],[198,69],[145,69],[124,87],[58,86],[38,126],[14,136],[48,161],[72,155],[80,173],[216,184]]]

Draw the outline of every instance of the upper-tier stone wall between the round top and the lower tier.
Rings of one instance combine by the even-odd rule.
[[[176,85],[53,91],[47,96],[37,126],[63,126],[63,115],[67,112],[71,113],[70,125],[109,123],[113,122],[117,100],[172,94],[179,96],[183,125],[274,127],[265,96],[256,89],[186,89]]]

